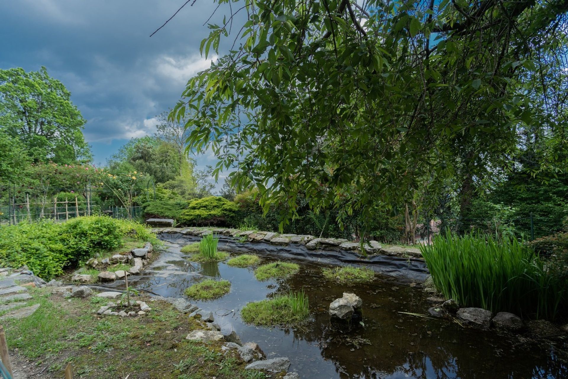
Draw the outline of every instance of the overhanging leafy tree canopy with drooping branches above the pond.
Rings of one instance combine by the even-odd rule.
[[[189,148],[212,147],[216,173],[235,168],[265,209],[293,216],[305,194],[364,221],[377,203],[435,199],[452,177],[465,213],[522,136],[546,136],[543,162],[566,163],[564,0],[218,2],[231,14],[202,53],[231,30],[240,44],[191,78],[171,116],[190,110]]]

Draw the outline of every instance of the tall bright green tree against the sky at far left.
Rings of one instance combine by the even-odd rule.
[[[35,162],[88,161],[82,133],[86,121],[70,96],[45,67],[0,70],[0,129],[19,139]]]

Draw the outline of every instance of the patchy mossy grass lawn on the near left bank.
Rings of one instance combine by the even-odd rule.
[[[68,301],[50,291],[31,289],[34,298],[28,303],[40,303],[39,309],[25,319],[3,321],[9,347],[34,360],[34,372],[43,372],[34,376],[38,379],[64,377],[68,363],[77,378],[122,378],[129,373],[164,379],[266,377],[244,370],[246,363],[235,351],[223,353],[222,341],[186,340],[190,331],[204,326],[169,303],[151,302],[151,313],[140,318],[101,317],[92,313],[100,304],[88,298]]]

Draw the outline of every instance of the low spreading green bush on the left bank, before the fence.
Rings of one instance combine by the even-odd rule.
[[[157,242],[142,224],[108,216],[82,216],[67,222],[22,222],[0,227],[0,265],[26,265],[50,280],[66,266],[77,266],[96,253],[119,248],[124,237]]]

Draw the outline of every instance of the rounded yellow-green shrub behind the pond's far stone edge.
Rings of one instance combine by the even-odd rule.
[[[193,199],[179,215],[185,226],[233,226],[238,207],[223,197],[210,196]]]

